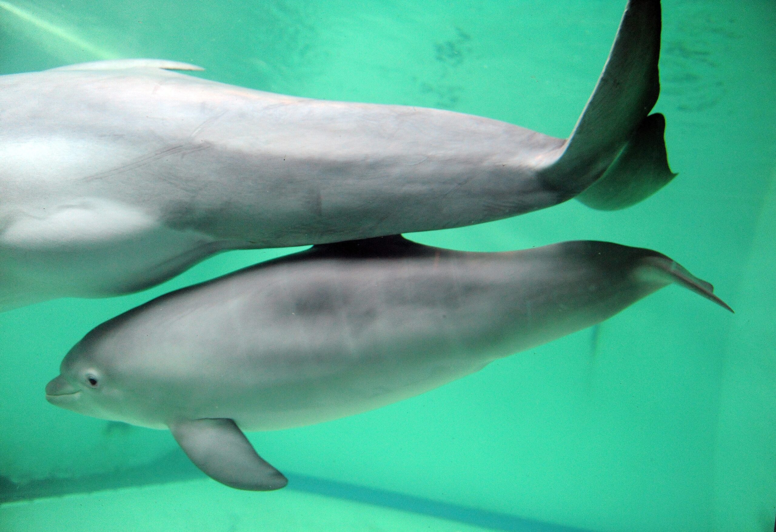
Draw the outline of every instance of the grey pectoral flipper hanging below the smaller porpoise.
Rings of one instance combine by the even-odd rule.
[[[175,441],[199,469],[232,488],[270,491],[288,480],[256,454],[233,420],[201,419],[171,423]]]

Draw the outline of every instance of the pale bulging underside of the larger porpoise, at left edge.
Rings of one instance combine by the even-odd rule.
[[[0,230],[0,311],[68,295],[136,292],[229,247],[109,199],[21,210]]]

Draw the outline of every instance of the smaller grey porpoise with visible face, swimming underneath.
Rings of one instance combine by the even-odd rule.
[[[46,387],[54,405],[169,429],[212,478],[285,478],[242,430],[334,420],[416,396],[608,319],[678,283],[656,251],[577,241],[472,253],[403,237],[322,244],[183,288],[97,326]]]

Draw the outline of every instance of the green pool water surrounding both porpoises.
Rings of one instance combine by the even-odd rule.
[[[565,137],[624,3],[2,0],[0,74],[160,57],[251,88],[453,109]],[[102,321],[290,250],[222,254],[136,295],[17,309],[0,314],[0,499],[25,485],[43,495],[54,485],[86,493],[6,503],[0,530],[462,531],[490,523],[770,532],[774,50],[772,1],[666,0],[656,111],[667,116],[670,164],[679,172],[667,188],[621,212],[568,202],[411,235],[462,250],[576,239],[650,247],[713,282],[734,316],[670,287],[594,330],[423,396],[314,427],[251,434],[263,457],[296,474],[298,489],[246,494],[208,480],[152,485],[174,476],[165,471],[175,468],[161,466],[153,474],[175,450],[170,434],[56,409],[43,387],[72,344]],[[130,481],[127,471],[138,473]],[[141,486],[85,489],[88,479],[99,487],[110,478]]]

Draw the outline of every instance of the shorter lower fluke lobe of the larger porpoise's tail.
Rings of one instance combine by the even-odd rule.
[[[667,185],[677,174],[668,166],[666,119],[647,116],[598,181],[577,196],[592,209],[613,211],[635,205]]]

